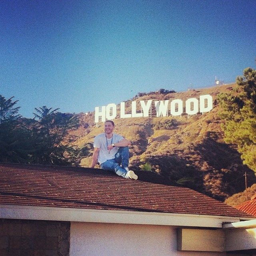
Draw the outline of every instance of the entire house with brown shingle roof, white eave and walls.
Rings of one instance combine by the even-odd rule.
[[[0,164],[0,255],[254,254],[254,216],[136,174]]]

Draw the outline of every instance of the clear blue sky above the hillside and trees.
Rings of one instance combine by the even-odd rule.
[[[94,111],[256,68],[256,0],[0,0],[0,94]]]

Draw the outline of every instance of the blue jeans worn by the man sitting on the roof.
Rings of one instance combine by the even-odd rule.
[[[126,178],[127,171],[124,169],[128,167],[129,164],[129,148],[120,147],[115,155],[115,158],[107,160],[106,162],[100,164],[103,170],[111,171],[119,176]],[[121,167],[122,166],[122,167]]]

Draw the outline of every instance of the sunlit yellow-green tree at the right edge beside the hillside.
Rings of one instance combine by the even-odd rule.
[[[256,70],[246,68],[236,83],[236,90],[218,95],[224,140],[236,144],[244,164],[256,172]]]

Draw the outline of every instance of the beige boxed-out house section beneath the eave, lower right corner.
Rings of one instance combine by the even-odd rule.
[[[177,250],[255,255],[256,220],[226,223],[222,229],[178,228]]]

